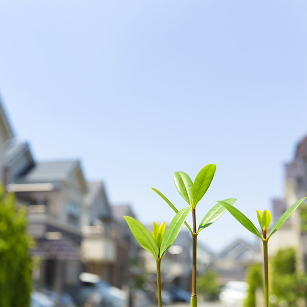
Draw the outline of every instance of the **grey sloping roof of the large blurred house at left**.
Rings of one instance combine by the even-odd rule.
[[[62,182],[68,180],[79,167],[78,160],[39,162],[31,168],[25,176],[21,176],[16,183]]]

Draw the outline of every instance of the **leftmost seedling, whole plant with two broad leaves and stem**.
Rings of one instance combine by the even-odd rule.
[[[139,244],[151,253],[157,264],[157,287],[158,287],[158,305],[162,307],[161,296],[161,260],[165,252],[175,242],[178,234],[183,226],[183,223],[190,211],[189,207],[183,208],[172,219],[165,231],[165,223],[159,227],[157,223],[153,223],[152,235],[146,227],[131,216],[123,216],[126,220],[131,232]],[[165,232],[165,233],[164,233]]]

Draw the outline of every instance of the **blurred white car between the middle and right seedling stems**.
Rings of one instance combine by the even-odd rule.
[[[226,307],[241,307],[247,297],[247,291],[247,282],[228,281],[220,293],[220,300]]]

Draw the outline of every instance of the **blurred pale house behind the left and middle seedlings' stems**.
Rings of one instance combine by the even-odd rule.
[[[147,229],[152,233],[152,226]],[[140,250],[144,259],[145,272],[156,274],[156,260],[145,251]],[[201,242],[198,242],[197,268],[202,275],[213,260],[213,253]],[[161,261],[162,282],[173,283],[176,286],[190,291],[192,283],[192,236],[190,232],[182,230],[174,244],[166,251]]]

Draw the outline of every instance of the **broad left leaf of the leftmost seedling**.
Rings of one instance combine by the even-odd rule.
[[[155,239],[146,227],[131,216],[123,216],[131,232],[134,234],[140,245],[158,259],[159,249]]]

